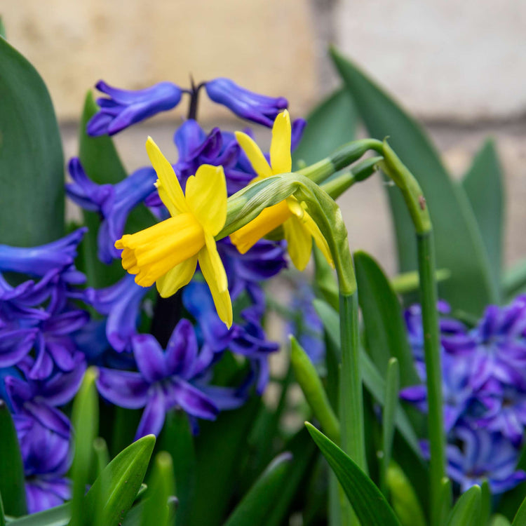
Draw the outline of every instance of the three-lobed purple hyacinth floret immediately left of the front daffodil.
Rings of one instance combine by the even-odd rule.
[[[128,215],[152,193],[157,175],[153,168],[140,168],[117,184],[96,184],[84,171],[77,157],[69,161],[69,175],[74,182],[66,184],[66,192],[82,208],[102,217],[97,234],[97,255],[110,264],[121,257],[114,243],[121,238]]]

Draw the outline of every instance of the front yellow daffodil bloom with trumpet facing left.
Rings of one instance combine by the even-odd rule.
[[[187,285],[197,263],[210,287],[217,313],[232,325],[232,304],[227,274],[217,253],[214,236],[227,220],[227,183],[222,166],[202,165],[187,180],[184,196],[179,180],[161,150],[148,137],[146,149],[157,177],[159,196],[169,219],[116,241],[122,249],[122,265],[135,274],[135,283],[156,283],[162,297]]]

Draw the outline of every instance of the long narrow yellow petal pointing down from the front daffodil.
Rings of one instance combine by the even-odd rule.
[[[199,267],[210,287],[217,315],[227,325],[232,325],[232,302],[228,290],[227,273],[224,271],[220,255],[217,253],[215,240],[205,234],[206,245],[198,253]]]

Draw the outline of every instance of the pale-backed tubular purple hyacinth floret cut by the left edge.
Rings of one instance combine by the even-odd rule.
[[[0,271],[20,272],[29,276],[44,276],[48,271],[72,266],[76,248],[87,228],[77,229],[68,236],[36,247],[0,245]]]

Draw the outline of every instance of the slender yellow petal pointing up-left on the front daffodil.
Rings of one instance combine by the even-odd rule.
[[[168,162],[162,151],[151,137],[146,141],[146,151],[150,158],[151,166],[154,167],[157,177],[157,189],[159,197],[170,211],[171,215],[189,212],[187,201],[182,193],[181,185],[172,165]]]

